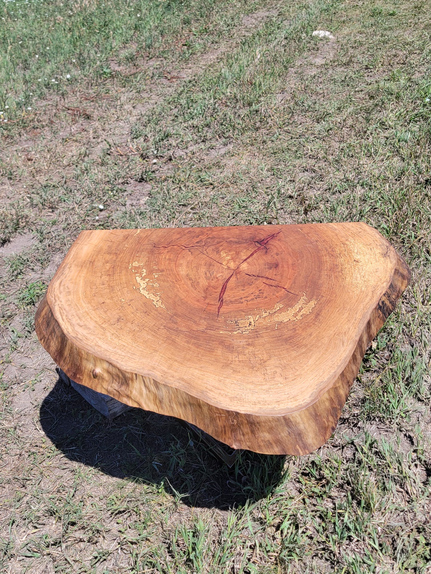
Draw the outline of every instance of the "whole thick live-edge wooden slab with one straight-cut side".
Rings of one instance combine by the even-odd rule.
[[[303,455],[409,280],[364,223],[83,231],[36,332],[80,385],[232,448]]]

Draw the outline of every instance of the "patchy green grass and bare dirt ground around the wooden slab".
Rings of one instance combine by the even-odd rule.
[[[429,572],[429,3],[0,12],[0,569]],[[345,220],[413,278],[309,456],[228,471],[170,418],[107,424],[37,342],[83,228]]]

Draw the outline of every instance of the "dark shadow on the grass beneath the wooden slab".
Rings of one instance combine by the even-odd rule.
[[[117,478],[163,484],[190,506],[243,506],[283,478],[285,456],[243,451],[229,470],[175,418],[131,409],[108,421],[61,381],[45,397],[40,422],[68,459]]]

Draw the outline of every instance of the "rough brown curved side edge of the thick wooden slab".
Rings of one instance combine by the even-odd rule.
[[[118,369],[71,343],[57,323],[46,297],[35,317],[37,336],[72,380],[126,405],[190,422],[232,448],[268,455],[305,455],[321,447],[334,432],[368,344],[394,311],[410,281],[406,262],[398,257],[392,280],[357,342],[349,363],[334,385],[302,410],[285,415],[256,415],[223,410],[183,390],[143,375]]]

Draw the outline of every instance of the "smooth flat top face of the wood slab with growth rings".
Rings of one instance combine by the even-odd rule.
[[[277,416],[334,385],[398,265],[364,223],[83,231],[46,301],[117,369]]]

